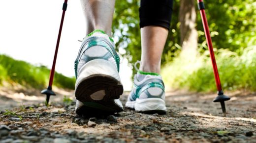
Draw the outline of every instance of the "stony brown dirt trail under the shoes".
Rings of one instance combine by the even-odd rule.
[[[123,104],[127,95],[122,95]],[[94,119],[93,127],[88,126],[89,119],[76,116],[74,102],[18,108],[17,115],[0,114],[0,142],[256,143],[256,93],[227,95],[231,100],[226,102],[226,114],[221,112],[220,103],[212,102],[216,94],[169,92],[166,115],[125,109],[116,117]],[[15,116],[22,119],[13,119]],[[3,125],[8,129],[4,130]]]

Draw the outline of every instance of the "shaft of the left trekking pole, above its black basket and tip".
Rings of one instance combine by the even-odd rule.
[[[51,72],[50,72],[49,87],[52,87],[52,84],[53,84],[53,77],[54,77],[54,72],[55,72],[56,59],[57,59],[58,49],[59,49],[60,40],[61,40],[62,27],[63,27],[63,22],[64,22],[64,16],[65,16],[66,7],[67,7],[67,0],[64,1],[63,8],[62,8],[62,9],[63,9],[63,12],[62,12],[62,20],[61,20],[61,25],[60,25],[60,29],[59,29],[59,34],[58,34],[56,49],[55,49],[55,53],[54,53],[53,65],[52,65],[52,69],[51,69]]]

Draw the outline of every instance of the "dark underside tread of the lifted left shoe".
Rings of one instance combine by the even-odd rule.
[[[101,90],[105,91],[103,99],[92,99],[91,95]],[[90,75],[84,78],[76,87],[76,99],[84,104],[76,110],[76,113],[90,115],[121,112],[123,108],[116,104],[114,99],[118,99],[123,91],[123,85],[112,76],[105,74]]]

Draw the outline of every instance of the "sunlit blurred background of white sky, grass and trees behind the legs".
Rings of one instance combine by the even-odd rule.
[[[141,53],[139,1],[116,0],[112,24],[114,41],[123,58],[121,80],[127,91],[132,86],[131,74],[136,73],[134,69],[131,71],[131,65],[140,59]],[[0,0],[0,84],[14,82],[36,89],[47,86],[49,71],[40,65],[51,68],[63,2]],[[171,26],[161,58],[160,74],[166,91],[216,92],[209,50],[195,2],[174,0]],[[255,0],[205,0],[205,5],[223,89],[255,91]],[[83,39],[84,31],[80,0],[68,0],[57,72],[74,76],[74,60],[81,45],[78,40]],[[17,65],[19,62],[10,62],[3,54],[9,55],[10,61],[15,58],[40,67],[32,68],[27,63]],[[55,76],[54,81],[59,87],[74,88],[74,78]]]

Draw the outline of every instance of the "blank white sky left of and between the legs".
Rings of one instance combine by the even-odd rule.
[[[64,0],[0,0],[0,54],[51,68]],[[74,60],[85,36],[80,0],[67,2],[56,71],[74,76]],[[123,59],[120,75],[126,91],[132,71]]]

